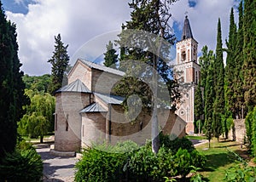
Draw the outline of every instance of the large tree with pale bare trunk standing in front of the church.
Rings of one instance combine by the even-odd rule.
[[[133,0],[129,3],[131,10],[131,20],[126,22],[126,25],[122,26],[123,31],[119,35],[119,46],[121,48],[121,61],[119,63],[120,68],[129,68],[126,72],[130,72],[131,75],[138,74],[141,79],[136,79],[131,77],[131,79],[124,78],[121,82],[127,86],[133,85],[134,88],[142,88],[143,92],[138,95],[143,98],[146,102],[144,107],[151,106],[153,111],[153,122],[152,122],[152,150],[157,153],[159,150],[159,126],[156,117],[156,107],[158,105],[157,100],[159,99],[158,91],[160,90],[160,82],[165,82],[167,88],[169,89],[169,94],[172,98],[173,105],[175,108],[175,101],[177,100],[177,84],[174,82],[172,77],[172,70],[167,65],[166,61],[161,58],[167,58],[170,51],[170,44],[166,45],[163,43],[163,39],[168,43],[173,43],[174,37],[172,35],[171,27],[168,25],[168,20],[171,18],[170,6],[172,2],[170,1],[160,1],[160,0]],[[146,33],[134,33],[129,30],[141,30],[151,32],[158,38],[148,37]],[[127,30],[127,31],[126,31]],[[150,39],[150,40],[148,40]],[[126,45],[124,45],[124,43]],[[134,45],[127,47],[127,45]],[[157,45],[157,46],[156,46]],[[148,49],[156,50],[158,54],[153,54],[152,51]],[[141,64],[134,64],[134,62],[129,60],[136,60],[151,66],[152,69],[143,70]],[[168,59],[166,59],[168,60]],[[158,79],[155,71],[161,77]],[[151,80],[153,82],[153,90],[150,89],[148,84],[141,84],[145,80]],[[118,87],[120,88],[120,87]],[[117,89],[117,93],[125,94],[125,90],[131,92],[130,87]],[[129,97],[128,94],[125,94]],[[154,108],[153,108],[154,107]]]

